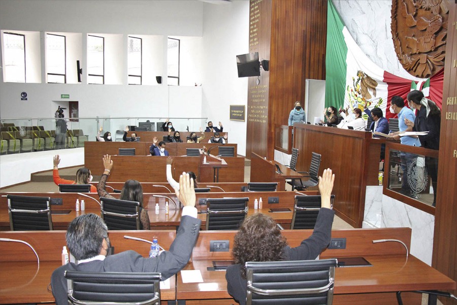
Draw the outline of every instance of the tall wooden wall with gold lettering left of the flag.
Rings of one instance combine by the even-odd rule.
[[[250,3],[249,52],[269,59],[270,71],[260,72],[258,85],[249,78],[246,156],[273,159],[274,124],[287,124],[293,104],[304,103],[307,78],[325,79],[327,1]]]

